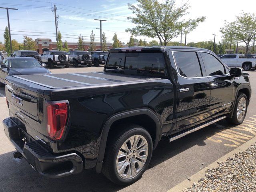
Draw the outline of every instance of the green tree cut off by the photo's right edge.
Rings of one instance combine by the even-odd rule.
[[[256,16],[254,13],[242,12],[240,16],[236,16],[237,22],[237,36],[246,44],[245,55],[247,57],[249,50],[249,43],[256,35]]]

